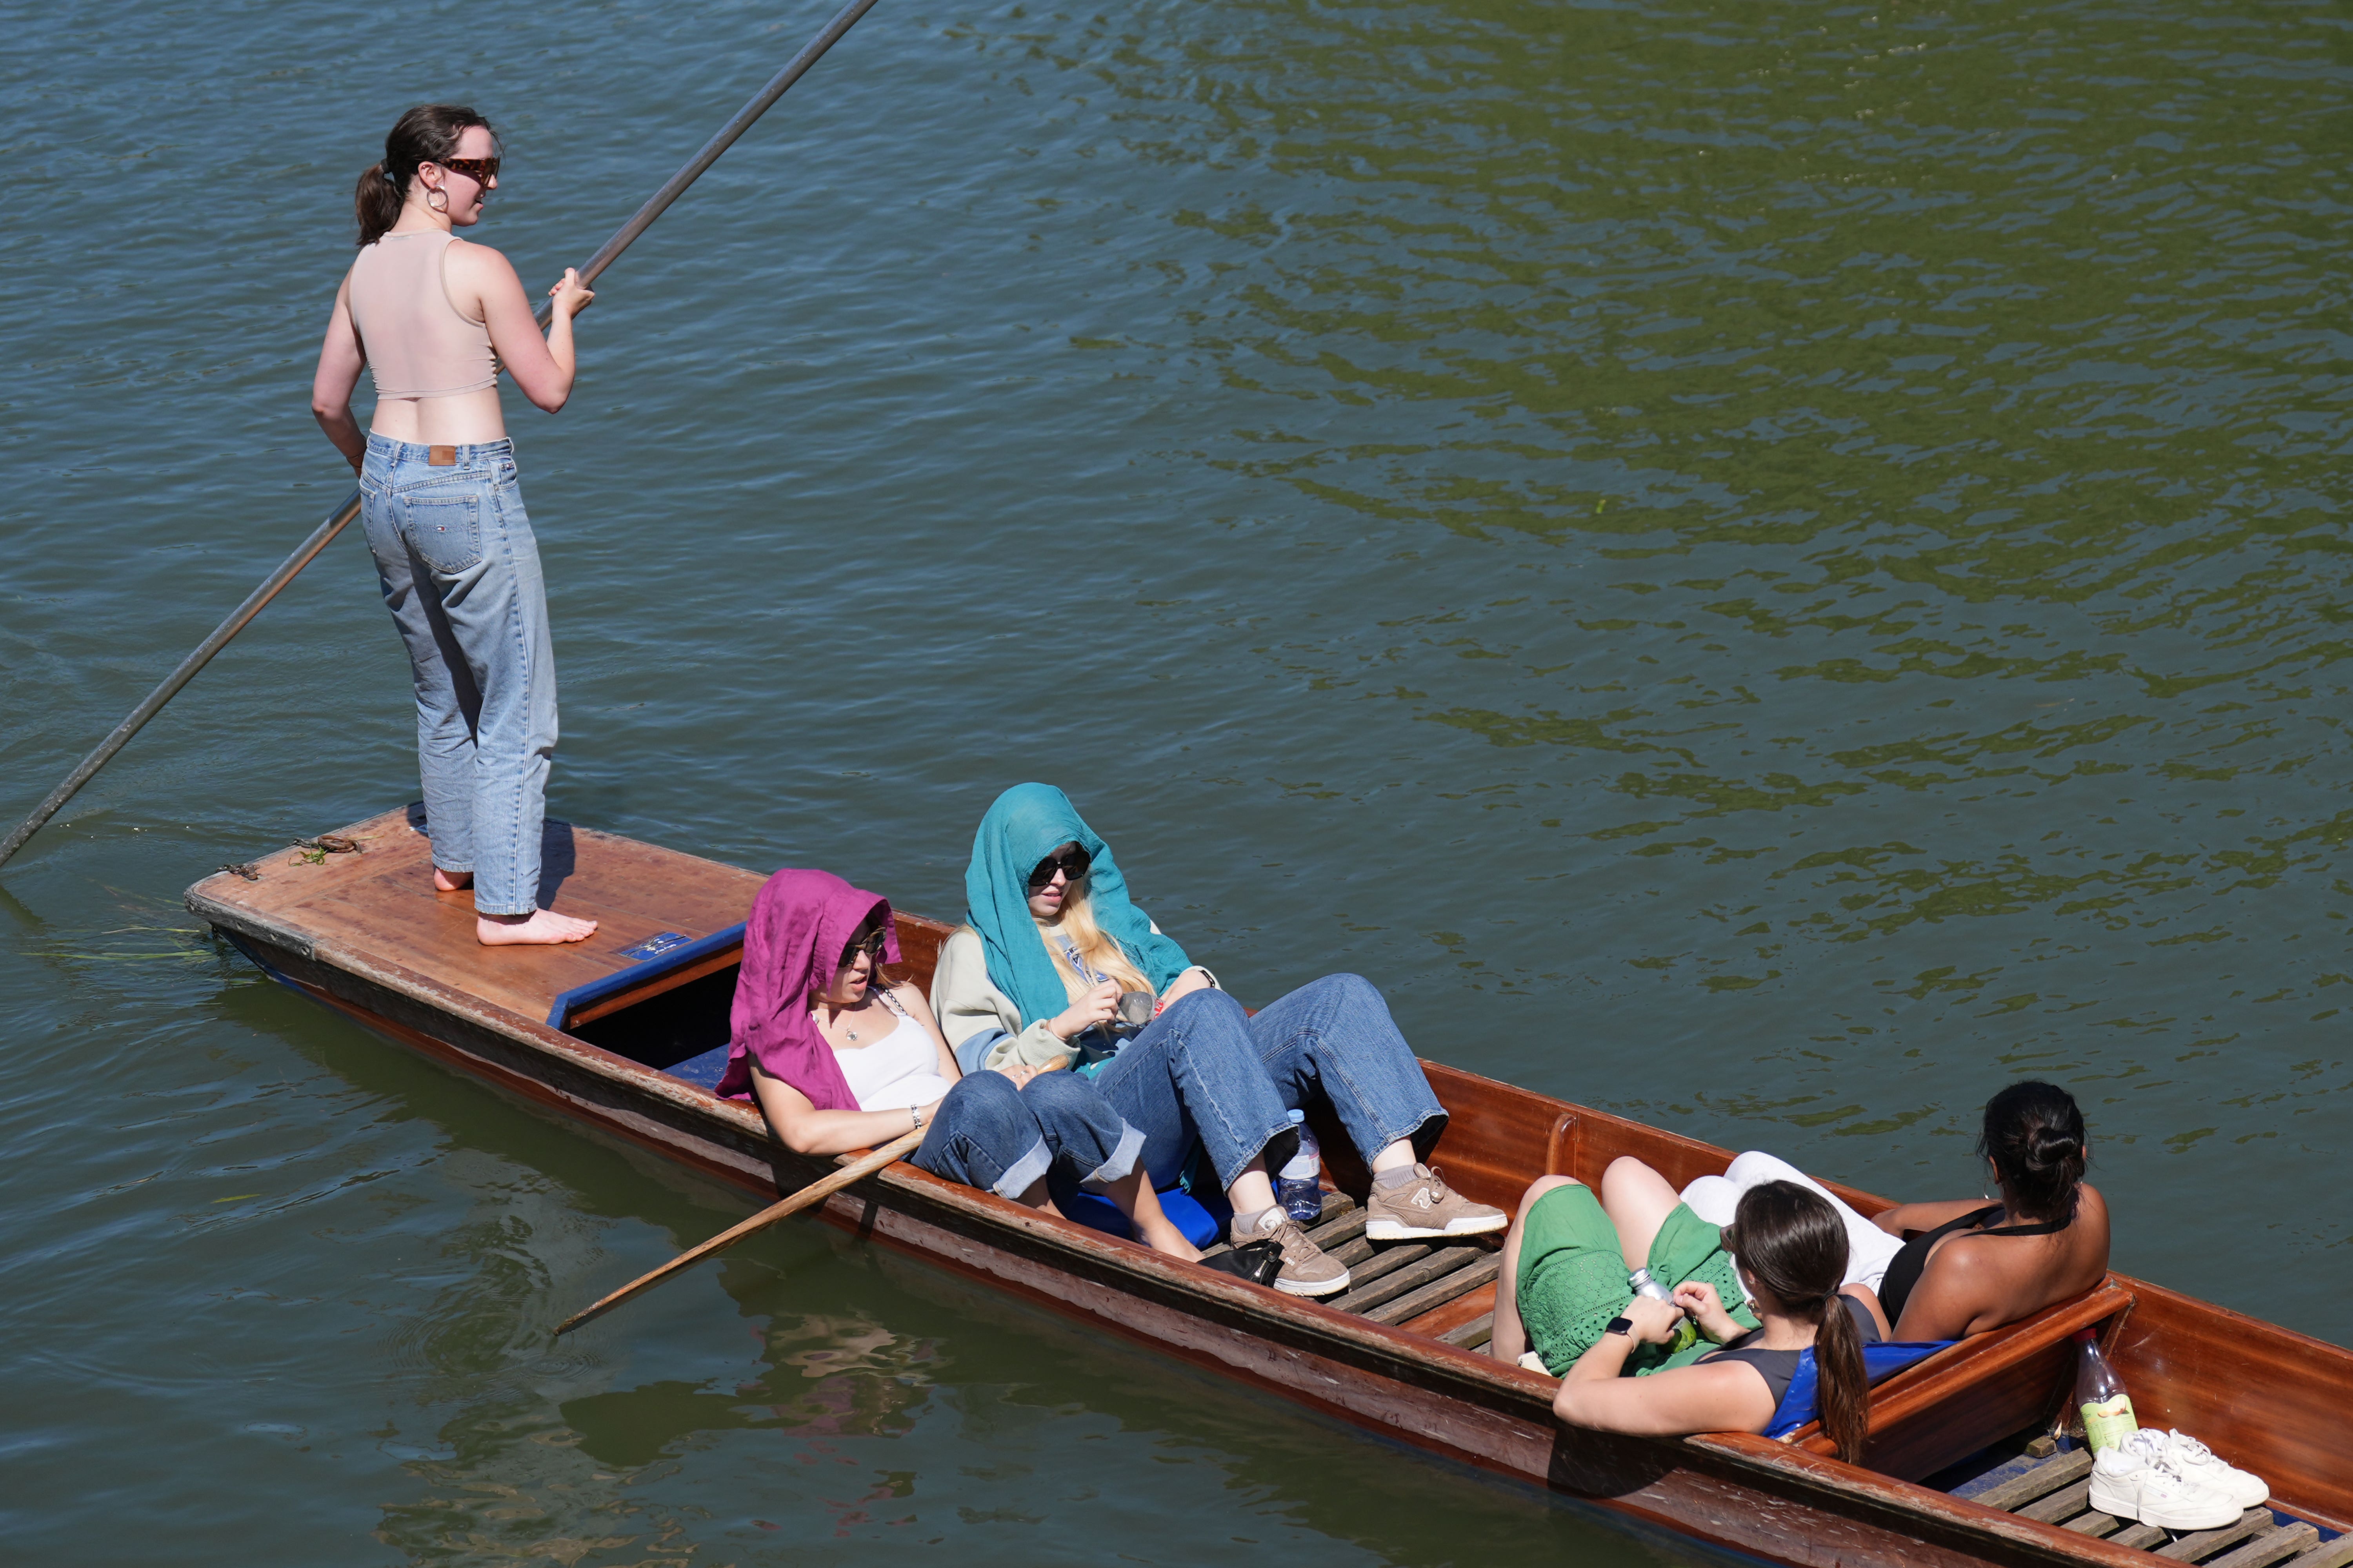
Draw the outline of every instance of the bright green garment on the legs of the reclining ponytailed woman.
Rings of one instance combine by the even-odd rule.
[[[1715,1286],[1715,1295],[1744,1328],[1755,1328],[1755,1314],[1744,1305],[1741,1281],[1722,1248],[1720,1232],[1675,1204],[1649,1244],[1649,1276],[1673,1288],[1685,1279]],[[1591,1187],[1553,1187],[1527,1211],[1520,1232],[1520,1324],[1527,1345],[1555,1378],[1577,1356],[1593,1349],[1609,1319],[1626,1312],[1633,1291],[1626,1286],[1626,1258],[1619,1253],[1617,1225],[1602,1213]],[[1666,1354],[1664,1345],[1638,1345],[1626,1359],[1635,1378],[1671,1366],[1689,1366],[1715,1349],[1708,1340]]]

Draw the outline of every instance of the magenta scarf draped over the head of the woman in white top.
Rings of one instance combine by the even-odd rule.
[[[727,1013],[727,1077],[718,1093],[751,1098],[751,1058],[809,1095],[816,1110],[856,1110],[856,1095],[816,1032],[809,1009],[833,983],[842,947],[875,910],[882,912],[882,961],[899,961],[889,900],[854,889],[833,872],[781,870],[751,900],[744,924],[744,971]]]

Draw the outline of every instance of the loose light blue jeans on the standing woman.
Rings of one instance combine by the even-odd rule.
[[[416,677],[416,771],[433,865],[473,872],[480,914],[539,907],[539,832],[555,755],[555,649],[515,444],[367,437],[360,522]]]

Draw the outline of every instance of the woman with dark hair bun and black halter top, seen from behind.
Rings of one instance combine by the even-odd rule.
[[[2075,1095],[2021,1079],[1986,1100],[1977,1140],[2000,1204],[1899,1204],[1873,1215],[1904,1251],[1880,1305],[1899,1340],[1958,1340],[2082,1295],[2108,1272],[2108,1204],[2082,1180]]]

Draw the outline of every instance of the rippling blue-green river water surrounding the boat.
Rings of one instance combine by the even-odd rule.
[[[348,190],[541,287],[824,21],[5,5],[7,820],[329,510]],[[1061,783],[1245,999],[1899,1197],[2085,1103],[2115,1265],[2353,1340],[2339,2],[885,0],[511,400],[551,809],[958,914]],[[416,795],[339,541],[0,877],[0,1556],[1706,1554],[788,1227],[181,889]],[[946,1556],[953,1554],[953,1556]]]

